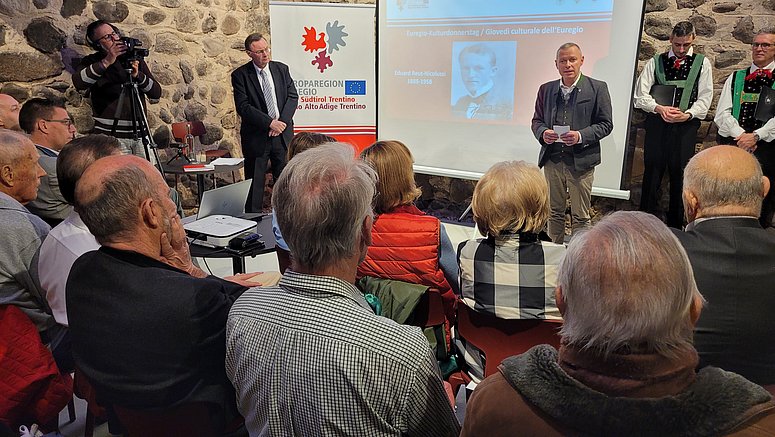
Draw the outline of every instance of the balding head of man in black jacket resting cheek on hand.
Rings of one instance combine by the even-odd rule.
[[[142,225],[141,204],[159,201],[160,187],[166,183],[148,161],[134,155],[108,156],[81,175],[75,208],[100,244],[131,241]]]

